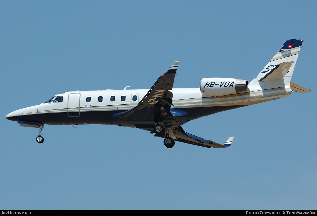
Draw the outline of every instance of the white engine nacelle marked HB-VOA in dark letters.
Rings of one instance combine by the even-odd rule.
[[[200,80],[200,91],[209,96],[235,94],[248,89],[248,81],[234,78],[211,77]]]

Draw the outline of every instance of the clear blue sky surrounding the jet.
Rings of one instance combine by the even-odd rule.
[[[150,88],[174,61],[174,87],[251,81],[291,38],[292,81],[316,80],[315,1],[1,1],[0,209],[316,209],[316,93],[220,112],[185,131],[208,149],[147,131],[45,125],[9,112],[73,90]]]

